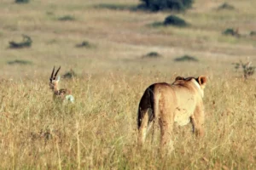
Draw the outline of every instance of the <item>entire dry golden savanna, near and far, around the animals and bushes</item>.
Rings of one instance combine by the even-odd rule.
[[[224,2],[233,8],[219,8]],[[256,65],[256,1],[195,0],[183,13],[139,3],[0,1],[0,169],[256,169],[256,77],[234,65]],[[156,26],[170,14],[189,26]],[[224,35],[228,28],[236,35]],[[31,47],[9,48],[22,35]],[[175,60],[184,55],[197,61]],[[60,82],[74,104],[53,102],[54,65],[60,75],[74,71]],[[175,126],[169,156],[150,133],[138,149],[145,88],[201,75],[206,136]]]

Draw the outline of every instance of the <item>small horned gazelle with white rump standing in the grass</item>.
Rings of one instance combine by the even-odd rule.
[[[53,91],[53,99],[55,101],[61,101],[61,102],[74,102],[74,97],[71,94],[71,90],[67,88],[61,88],[59,89],[59,82],[61,80],[61,77],[58,76],[58,72],[61,70],[61,66],[58,68],[58,70],[55,72],[55,66],[53,68],[53,71],[51,73],[51,76],[49,77],[49,88]],[[57,79],[56,79],[57,77]]]

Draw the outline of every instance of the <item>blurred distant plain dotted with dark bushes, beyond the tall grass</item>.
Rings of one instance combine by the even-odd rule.
[[[1,77],[49,77],[54,65],[80,77],[243,76],[242,65],[252,62],[254,70],[255,6],[251,0],[1,0]]]

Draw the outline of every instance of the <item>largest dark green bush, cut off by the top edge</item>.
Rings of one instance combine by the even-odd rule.
[[[141,0],[143,7],[152,11],[165,9],[183,11],[192,6],[193,0]]]

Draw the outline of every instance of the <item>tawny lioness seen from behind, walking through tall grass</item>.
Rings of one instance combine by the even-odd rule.
[[[202,98],[207,77],[176,77],[175,82],[154,83],[149,86],[139,103],[138,142],[143,145],[149,128],[155,121],[160,125],[160,146],[172,150],[173,123],[183,126],[192,123],[197,136],[204,135],[204,105]],[[154,130],[154,129],[153,129]]]

